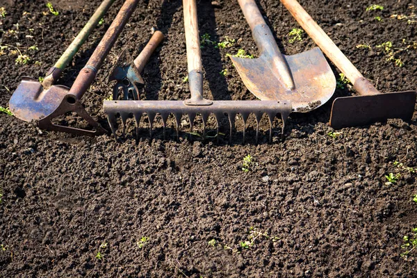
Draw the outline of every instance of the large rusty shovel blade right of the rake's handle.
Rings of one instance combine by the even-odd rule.
[[[332,97],[336,79],[318,47],[291,56],[283,55],[290,69],[295,88],[286,88],[274,68],[274,58],[265,54],[256,59],[231,56],[246,87],[261,100],[286,99],[293,111],[309,112]]]

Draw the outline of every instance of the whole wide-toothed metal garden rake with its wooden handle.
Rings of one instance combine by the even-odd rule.
[[[206,122],[210,114],[215,115],[217,121],[217,138],[219,136],[220,118],[227,114],[230,124],[230,137],[235,123],[235,117],[238,113],[243,117],[243,142],[245,142],[246,121],[251,113],[256,117],[256,142],[259,135],[259,122],[264,113],[269,117],[270,121],[270,140],[272,140],[272,120],[281,114],[282,120],[285,122],[291,113],[291,101],[286,99],[270,100],[270,101],[218,101],[205,99],[203,97],[203,72],[202,58],[199,44],[199,31],[197,25],[197,5],[195,0],[183,0],[184,25],[186,31],[186,48],[188,63],[188,80],[191,92],[190,99],[185,101],[104,101],[104,113],[108,115],[108,122],[111,126],[115,138],[117,128],[117,115],[122,118],[123,134],[126,120],[129,115],[133,114],[136,120],[136,136],[138,134],[138,125],[142,114],[146,113],[149,120],[150,135],[152,136],[152,124],[157,114],[161,115],[163,122],[163,133],[165,137],[165,126],[170,114],[174,115],[177,126],[177,138],[179,134],[179,124],[181,116],[186,113],[190,121],[190,129],[193,131],[193,122],[197,113],[202,116],[203,121],[203,137],[206,133]],[[283,131],[284,131],[283,126]]]

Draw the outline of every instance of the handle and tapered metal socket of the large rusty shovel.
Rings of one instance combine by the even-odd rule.
[[[268,25],[263,19],[261,12],[254,0],[238,0],[240,8],[245,15],[246,21],[252,30],[252,36],[261,55],[266,56],[272,65],[279,72],[281,81],[288,89],[294,89],[295,84],[291,76],[291,71],[286,63],[284,56],[279,51],[277,42]]]

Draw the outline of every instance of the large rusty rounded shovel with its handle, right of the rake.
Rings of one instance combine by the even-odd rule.
[[[281,54],[254,0],[238,0],[259,48],[259,58],[230,56],[240,77],[261,100],[287,99],[294,112],[309,112],[332,97],[336,79],[318,47],[300,54]]]

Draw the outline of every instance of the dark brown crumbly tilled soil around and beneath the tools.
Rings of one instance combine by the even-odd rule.
[[[9,46],[0,56],[0,105],[7,107],[22,76],[43,76],[100,1],[51,1],[58,16],[44,15],[40,0],[0,2],[7,11],[0,43]],[[416,40],[416,23],[390,17],[416,14],[414,1],[383,0],[384,10],[368,12],[374,3],[368,0],[300,2],[379,90],[416,89],[417,50],[396,54],[404,63],[398,67],[376,47],[391,41],[397,51]],[[301,42],[288,42],[289,31],[299,26],[279,1],[258,4],[285,54],[315,47],[305,33]],[[72,84],[121,5],[113,4],[59,84]],[[228,49],[202,49],[207,97],[254,99],[226,56],[238,49],[258,54],[237,1],[199,1],[198,8],[200,34],[236,40]],[[142,74],[142,97],[189,94],[181,1],[140,1],[83,97],[106,127],[101,105],[111,94],[109,71],[122,49],[138,55],[153,27],[166,39]],[[38,50],[29,51],[32,45]],[[31,57],[28,65],[15,65],[10,46]],[[344,87],[334,97],[354,93]],[[1,113],[0,277],[417,277],[416,250],[400,256],[403,236],[417,227],[416,174],[394,165],[417,166],[417,115],[410,122],[342,129],[333,138],[332,100],[311,113],[292,114],[285,140],[279,140],[276,120],[268,144],[263,122],[259,145],[254,118],[247,124],[248,142],[240,144],[240,124],[229,145],[228,135],[220,142],[190,138],[187,122],[178,142],[172,130],[163,140],[161,124],[150,139],[145,120],[138,142],[133,124],[115,142],[110,136],[41,133]],[[75,115],[62,121],[78,123]],[[227,133],[227,120],[221,124]],[[213,119],[209,127],[215,129]],[[245,172],[247,155],[252,163]],[[396,183],[387,183],[390,172],[400,174]],[[247,248],[240,244],[245,241]]]

